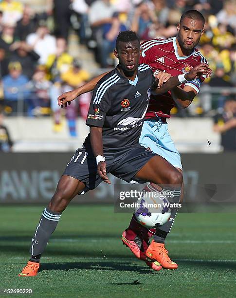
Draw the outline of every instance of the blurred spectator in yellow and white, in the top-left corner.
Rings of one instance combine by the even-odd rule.
[[[23,4],[20,1],[3,0],[0,2],[0,11],[3,12],[3,22],[16,22],[21,18],[23,13]]]

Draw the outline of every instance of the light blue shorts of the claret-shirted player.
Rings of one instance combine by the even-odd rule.
[[[167,123],[161,118],[144,121],[139,143],[162,156],[175,168],[182,169],[180,153],[170,137]]]

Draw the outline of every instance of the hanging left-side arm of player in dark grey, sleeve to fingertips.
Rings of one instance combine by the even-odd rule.
[[[111,102],[109,99],[109,93],[106,91],[106,87],[104,87],[103,83],[104,80],[99,81],[94,88],[86,125],[90,127],[90,143],[93,154],[96,158],[97,173],[104,182],[110,184],[106,175],[106,161],[103,153],[102,131]]]

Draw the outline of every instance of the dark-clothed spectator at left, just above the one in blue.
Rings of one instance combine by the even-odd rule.
[[[10,56],[11,61],[19,61],[22,67],[22,74],[29,79],[32,78],[39,56],[25,41],[16,41],[11,45],[14,50]]]

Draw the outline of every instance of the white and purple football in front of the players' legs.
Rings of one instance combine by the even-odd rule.
[[[139,200],[140,206],[136,207],[134,214],[136,220],[146,228],[158,227],[166,223],[171,214],[168,208],[169,202],[166,198],[145,197]]]

